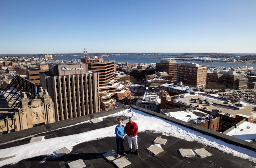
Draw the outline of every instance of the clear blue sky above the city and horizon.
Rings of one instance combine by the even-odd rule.
[[[256,0],[0,0],[0,54],[256,53]]]

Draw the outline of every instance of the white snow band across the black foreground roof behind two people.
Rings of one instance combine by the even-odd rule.
[[[123,110],[108,116],[99,117],[99,119],[104,120],[107,117],[116,117],[116,116],[126,116],[133,117],[133,121],[136,122],[139,126],[139,133],[145,131],[152,131],[154,133],[161,133],[165,136],[177,137],[180,139],[184,139],[184,141],[189,142],[199,142],[206,146],[216,148],[223,153],[228,153],[240,158],[247,159],[253,163],[256,161],[256,152],[245,149],[242,147],[238,147],[235,145],[231,145],[229,143],[223,142],[219,139],[216,139],[212,136],[202,134],[200,132],[188,129],[186,127],[174,124],[168,120],[161,119],[157,116],[153,116],[150,114],[145,114],[142,111],[135,109],[127,109]],[[88,123],[89,120],[84,121],[83,123]],[[80,125],[83,123],[79,123],[76,125]],[[117,124],[111,125],[109,127],[103,127],[91,131],[82,132],[79,134],[67,135],[67,136],[59,136],[54,138],[43,138],[40,142],[28,143],[24,145],[14,146],[11,148],[5,148],[0,150],[0,158],[14,156],[7,160],[3,160],[0,162],[0,167],[7,164],[14,164],[21,160],[33,158],[35,156],[46,155],[46,158],[54,158],[56,155],[53,151],[56,151],[60,148],[67,147],[69,150],[72,150],[74,146],[94,141],[96,139],[104,139],[107,137],[115,137],[114,130]],[[74,126],[74,125],[72,125]],[[72,127],[69,126],[69,127]],[[63,127],[61,129],[65,129],[67,127]],[[256,129],[255,129],[256,130]],[[17,140],[14,140],[17,141]],[[8,142],[10,143],[10,142]],[[113,140],[113,143],[114,140]],[[0,144],[2,145],[2,144]],[[42,162],[45,161],[42,160]]]

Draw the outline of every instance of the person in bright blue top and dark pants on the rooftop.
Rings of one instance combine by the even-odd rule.
[[[121,155],[126,155],[124,151],[124,141],[125,141],[125,126],[122,125],[122,120],[118,119],[118,125],[115,128],[116,133],[116,156],[120,157]]]

